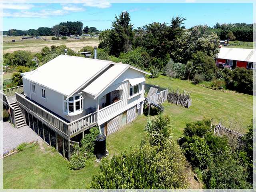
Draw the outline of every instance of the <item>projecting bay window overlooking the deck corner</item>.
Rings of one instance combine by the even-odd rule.
[[[76,95],[68,98],[64,97],[64,113],[72,114],[74,112],[79,113],[83,111],[83,100],[81,95]]]

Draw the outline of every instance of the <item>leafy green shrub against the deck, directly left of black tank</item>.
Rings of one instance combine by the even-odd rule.
[[[96,136],[100,134],[97,127],[90,128],[88,134],[84,135],[84,138],[81,140],[82,151],[93,153],[95,148]]]

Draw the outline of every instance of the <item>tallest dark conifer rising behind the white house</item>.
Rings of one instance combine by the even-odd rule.
[[[119,56],[121,52],[128,52],[132,49],[132,41],[134,32],[133,25],[130,24],[130,14],[122,12],[119,16],[115,16],[116,21],[112,22],[112,30],[110,33],[110,54]]]

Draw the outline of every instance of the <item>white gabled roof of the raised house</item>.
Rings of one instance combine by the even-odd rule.
[[[67,55],[60,55],[22,75],[23,78],[59,92],[67,98],[83,87],[86,88],[82,91],[96,98],[128,68],[151,75],[128,64]]]

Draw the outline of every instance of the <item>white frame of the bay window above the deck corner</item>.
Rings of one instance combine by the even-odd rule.
[[[79,99],[76,99],[76,96],[79,96]],[[66,115],[77,115],[80,114],[84,111],[84,106],[83,106],[83,97],[81,94],[76,94],[71,96],[70,98],[73,98],[73,100],[66,100],[66,97],[63,96],[63,112]],[[79,101],[79,110],[76,110],[76,102]],[[69,111],[69,104],[73,103],[73,112]],[[66,106],[65,106],[66,104]]]

